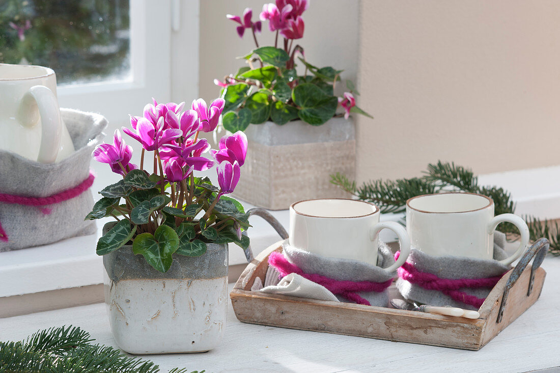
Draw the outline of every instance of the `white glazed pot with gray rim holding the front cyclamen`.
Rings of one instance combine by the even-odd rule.
[[[212,243],[202,256],[173,258],[171,268],[161,273],[134,255],[132,245],[103,256],[111,331],[124,351],[205,352],[220,344],[226,326],[228,246]]]

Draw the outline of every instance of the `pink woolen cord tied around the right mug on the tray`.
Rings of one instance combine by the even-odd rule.
[[[395,260],[398,259],[400,252],[395,253]],[[447,279],[439,278],[433,273],[421,272],[408,261],[396,270],[396,273],[403,280],[416,284],[427,290],[436,290],[451,297],[452,300],[465,303],[466,305],[480,308],[485,298],[478,298],[473,295],[460,291],[464,288],[493,288],[500,281],[500,276],[485,278],[459,278]],[[504,273],[505,274],[505,273]]]

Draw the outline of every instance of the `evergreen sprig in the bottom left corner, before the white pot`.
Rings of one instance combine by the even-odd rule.
[[[160,371],[160,367],[151,361],[125,356],[113,347],[90,344],[93,340],[86,331],[70,325],[39,330],[25,341],[0,342],[0,373]],[[175,368],[170,373],[187,371]]]

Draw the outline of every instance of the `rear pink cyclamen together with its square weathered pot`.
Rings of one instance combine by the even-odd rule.
[[[247,66],[214,80],[225,100],[223,128],[245,131],[251,144],[236,196],[269,209],[343,196],[328,181],[333,172],[354,174],[356,143],[349,114],[371,117],[356,106],[351,81],[347,92],[335,96],[342,70],[307,62],[297,44],[306,8],[306,0],[276,0],[263,6],[260,21],[251,20],[250,8],[241,17],[227,15],[238,24],[240,37],[252,34],[256,48],[242,57]],[[258,43],[263,21],[276,33],[273,46]],[[344,114],[337,114],[339,105]]]

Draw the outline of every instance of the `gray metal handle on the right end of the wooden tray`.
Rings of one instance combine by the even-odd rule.
[[[507,302],[507,295],[510,292],[510,289],[515,285],[521,273],[525,270],[526,266],[529,264],[529,261],[533,260],[533,265],[531,265],[531,277],[529,279],[529,288],[527,289],[527,296],[531,294],[533,291],[533,283],[535,282],[535,273],[536,270],[540,267],[540,264],[543,263],[544,257],[547,255],[548,248],[550,243],[546,238],[539,238],[538,240],[533,243],[529,250],[525,252],[525,255],[521,257],[521,260],[515,266],[514,270],[511,271],[510,278],[507,279],[506,287],[503,289],[503,296],[502,296],[502,303],[500,305],[500,311],[498,311],[498,318],[496,323],[500,323],[503,317],[503,310],[506,307]]]

